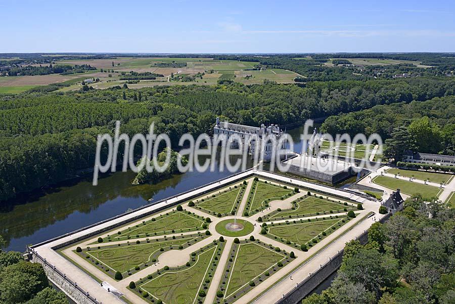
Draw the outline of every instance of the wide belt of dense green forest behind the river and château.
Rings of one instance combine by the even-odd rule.
[[[230,83],[140,90],[125,85],[108,90],[4,95],[0,99],[0,201],[93,167],[96,137],[112,133],[115,120],[122,122],[121,131],[130,136],[147,133],[155,121],[156,132],[167,133],[176,147],[184,133],[210,134],[216,116],[248,125],[278,123],[285,128],[307,118],[376,105],[418,104],[437,97],[449,102],[447,96],[455,93],[454,81],[450,77],[316,81],[304,88]],[[383,128],[387,138],[390,130]]]

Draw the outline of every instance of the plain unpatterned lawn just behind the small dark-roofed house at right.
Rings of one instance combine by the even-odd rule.
[[[413,195],[420,193],[425,199],[431,199],[439,194],[440,189],[430,185],[423,185],[414,182],[403,181],[385,176],[378,176],[373,179],[375,184],[387,187],[391,190],[400,189],[401,192]]]

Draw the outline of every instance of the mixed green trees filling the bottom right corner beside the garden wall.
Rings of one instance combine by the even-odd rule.
[[[368,243],[344,248],[337,277],[302,304],[451,304],[455,301],[455,209],[416,195]]]

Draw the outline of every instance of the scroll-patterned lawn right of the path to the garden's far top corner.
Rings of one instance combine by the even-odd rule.
[[[283,200],[290,194],[294,194],[294,191],[289,188],[284,189],[269,182],[254,181],[245,210],[252,215],[264,209],[265,203],[272,200]]]

